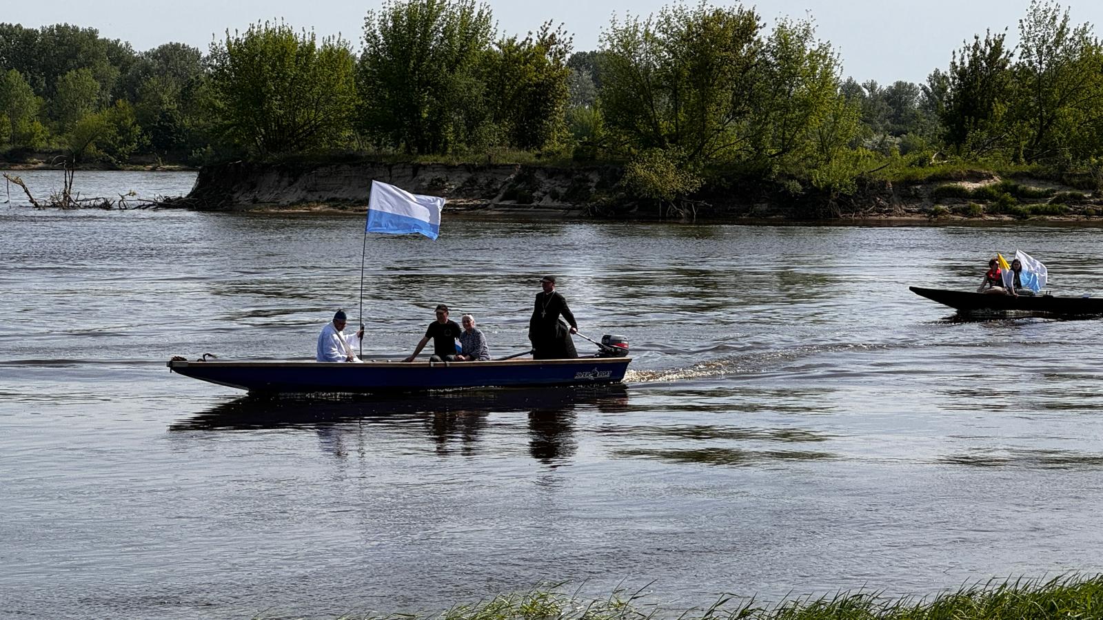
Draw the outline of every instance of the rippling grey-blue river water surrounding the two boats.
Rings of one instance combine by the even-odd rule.
[[[0,226],[7,618],[425,612],[558,581],[686,609],[1103,569],[1103,321],[966,321],[907,289],[973,288],[1020,248],[1100,295],[1100,228],[446,214],[437,242],[367,239],[368,356],[411,352],[439,302],[524,351],[550,272],[583,334],[629,338],[627,385],[255,400],[164,362],[310,359],[361,313],[362,220]]]

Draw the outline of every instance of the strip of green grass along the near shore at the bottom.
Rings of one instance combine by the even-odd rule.
[[[286,618],[258,616],[257,618]],[[341,620],[1049,620],[1103,618],[1103,575],[1071,575],[962,587],[931,597],[890,599],[839,592],[775,605],[724,596],[707,609],[677,610],[644,601],[642,590],[588,601],[558,587],[501,595],[435,614],[343,616]]]

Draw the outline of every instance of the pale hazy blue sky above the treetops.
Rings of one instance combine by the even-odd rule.
[[[489,0],[499,31],[524,35],[546,20],[563,22],[575,36],[575,51],[598,49],[602,29],[613,14],[646,15],[672,0]],[[692,2],[695,3],[695,0]],[[711,1],[731,6],[736,2]],[[882,85],[898,79],[921,83],[965,40],[985,30],[1008,29],[1017,40],[1018,20],[1029,0],[773,0],[743,2],[772,24],[779,17],[816,22],[820,39],[831,41],[843,62],[843,75]],[[0,0],[0,22],[38,28],[73,23],[99,30],[109,39],[129,41],[138,51],[182,42],[204,52],[215,34],[245,30],[258,20],[282,18],[296,29],[319,35],[338,34],[358,49],[364,15],[381,0]],[[1062,3],[1073,23],[1095,24],[1103,34],[1103,1]]]

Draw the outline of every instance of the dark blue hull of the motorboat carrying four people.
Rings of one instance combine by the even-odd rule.
[[[186,362],[172,372],[258,394],[371,394],[457,387],[593,385],[624,378],[631,357],[502,362]]]

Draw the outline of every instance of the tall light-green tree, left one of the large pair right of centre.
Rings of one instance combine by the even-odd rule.
[[[746,146],[761,42],[758,14],[704,3],[613,21],[602,34],[600,105],[632,149],[681,149],[687,161],[730,158]]]

